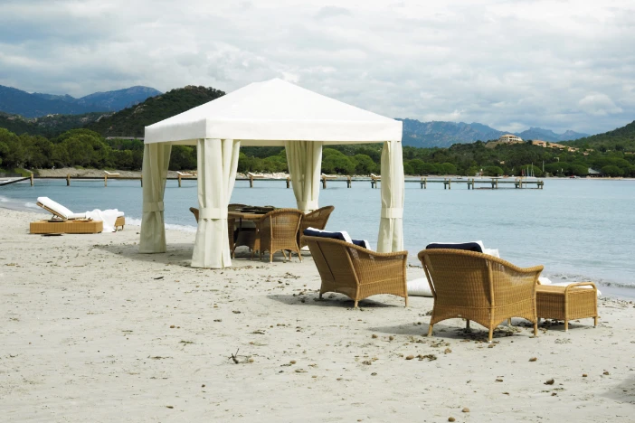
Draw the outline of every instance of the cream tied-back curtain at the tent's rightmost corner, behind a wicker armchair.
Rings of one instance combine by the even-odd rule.
[[[386,141],[382,150],[382,216],[377,251],[403,250],[403,155],[400,141]]]

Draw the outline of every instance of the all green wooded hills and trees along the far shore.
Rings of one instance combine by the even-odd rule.
[[[138,170],[143,161],[143,140],[134,137],[142,137],[144,127],[223,95],[224,92],[218,89],[187,86],[114,114],[53,115],[37,119],[0,115],[0,167],[37,170],[81,166]],[[449,147],[404,146],[403,169],[410,175],[586,176],[591,168],[608,176],[635,176],[633,153],[635,122],[605,134],[559,145],[506,144],[492,140]],[[381,154],[381,144],[325,146],[322,172],[378,174]],[[195,167],[194,146],[173,147],[171,170]],[[238,170],[287,172],[284,148],[243,147]]]

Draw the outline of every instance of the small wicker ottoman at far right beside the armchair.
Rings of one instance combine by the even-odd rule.
[[[583,286],[592,287],[581,288]],[[593,317],[598,325],[598,292],[592,282],[580,282],[567,287],[538,285],[535,287],[535,306],[538,318],[564,320],[564,332],[569,321]]]

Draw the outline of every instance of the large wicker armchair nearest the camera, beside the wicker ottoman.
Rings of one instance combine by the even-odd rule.
[[[523,317],[534,324],[538,334],[535,286],[543,270],[517,268],[487,254],[459,249],[424,249],[419,255],[434,296],[428,336],[442,320],[464,318],[489,329],[511,317]]]

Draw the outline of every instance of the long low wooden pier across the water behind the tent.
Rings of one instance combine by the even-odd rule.
[[[22,179],[17,179],[12,181],[11,183],[29,180],[31,181],[31,185],[33,186],[34,179],[65,179],[66,185],[71,186],[71,180],[92,180],[99,181],[103,179],[104,186],[108,186],[108,181],[113,179],[118,180],[135,180],[141,183],[143,186],[143,179],[140,176],[119,176],[118,174],[105,174],[102,177],[98,176],[71,176],[67,174],[66,176],[33,176],[26,177]],[[168,177],[170,181],[178,181],[178,186],[182,186],[183,180],[196,180],[196,175],[182,175],[179,174],[176,177]],[[371,184],[371,188],[378,188],[382,182],[381,176],[371,174],[370,177],[355,177],[355,176],[335,176],[335,175],[326,175],[322,174],[320,180],[322,181],[322,189],[327,189],[327,181],[329,183],[346,183],[346,188],[352,188],[353,183],[369,183]],[[256,181],[280,181],[285,182],[287,188],[291,187],[291,180],[289,176],[286,178],[268,178],[259,175],[249,174],[247,177],[236,178],[236,181],[247,181],[249,182],[249,187],[253,188]],[[428,189],[428,183],[443,183],[443,189],[451,190],[452,186],[460,186],[466,185],[468,190],[498,190],[499,188],[515,188],[515,189],[537,189],[542,190],[545,186],[545,182],[536,179],[532,181],[527,181],[526,178],[516,178],[513,180],[507,179],[499,179],[499,178],[406,178],[405,183],[419,183],[422,190]]]

